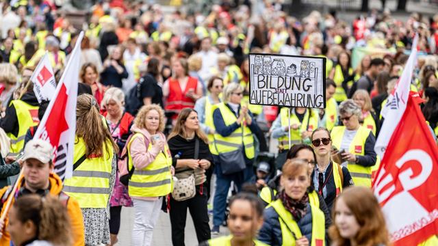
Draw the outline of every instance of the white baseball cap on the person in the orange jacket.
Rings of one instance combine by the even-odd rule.
[[[54,148],[47,141],[32,139],[27,142],[23,153],[23,161],[37,159],[42,163],[49,163],[53,159]]]

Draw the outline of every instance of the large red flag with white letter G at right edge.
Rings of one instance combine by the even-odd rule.
[[[438,148],[417,100],[409,96],[373,184],[394,246],[438,234]]]

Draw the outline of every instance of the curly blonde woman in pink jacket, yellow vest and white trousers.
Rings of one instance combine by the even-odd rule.
[[[129,196],[135,209],[131,245],[151,245],[162,197],[172,191],[172,156],[164,131],[164,111],[158,105],[140,108],[127,141]]]

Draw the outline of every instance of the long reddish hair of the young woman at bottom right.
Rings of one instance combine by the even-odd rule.
[[[333,221],[336,221],[336,206],[339,200],[342,200],[348,206],[361,227],[355,235],[357,245],[390,245],[389,233],[385,226],[385,217],[383,217],[381,206],[378,204],[370,188],[348,187],[342,191],[333,206]],[[336,222],[329,228],[329,235],[334,245],[351,245],[350,240],[343,238],[339,233]]]

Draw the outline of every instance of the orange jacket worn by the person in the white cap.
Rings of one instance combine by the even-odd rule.
[[[20,191],[21,187],[23,187],[25,179],[24,176],[21,176],[18,182],[18,188],[17,190]],[[49,176],[49,193],[55,197],[59,196],[62,192],[62,180],[57,174],[51,173]],[[3,215],[5,213],[5,204],[6,198],[8,195],[5,195],[5,193],[10,193],[10,189],[12,189],[11,186],[3,187],[3,189],[0,190],[0,197],[1,197],[1,213],[0,215]],[[65,194],[64,194],[65,195]],[[12,198],[12,204],[15,202],[15,197]],[[82,217],[82,211],[81,208],[79,208],[79,204],[73,197],[68,197],[67,200],[67,213],[68,217],[70,218],[70,224],[71,224],[71,232],[72,232],[72,238],[74,239],[74,246],[79,245],[85,245],[85,236],[84,236],[84,229],[83,229],[83,217]],[[5,217],[5,226],[3,227],[3,236],[0,238],[0,246],[9,246],[10,245],[10,234],[7,230],[8,227],[8,216]]]

